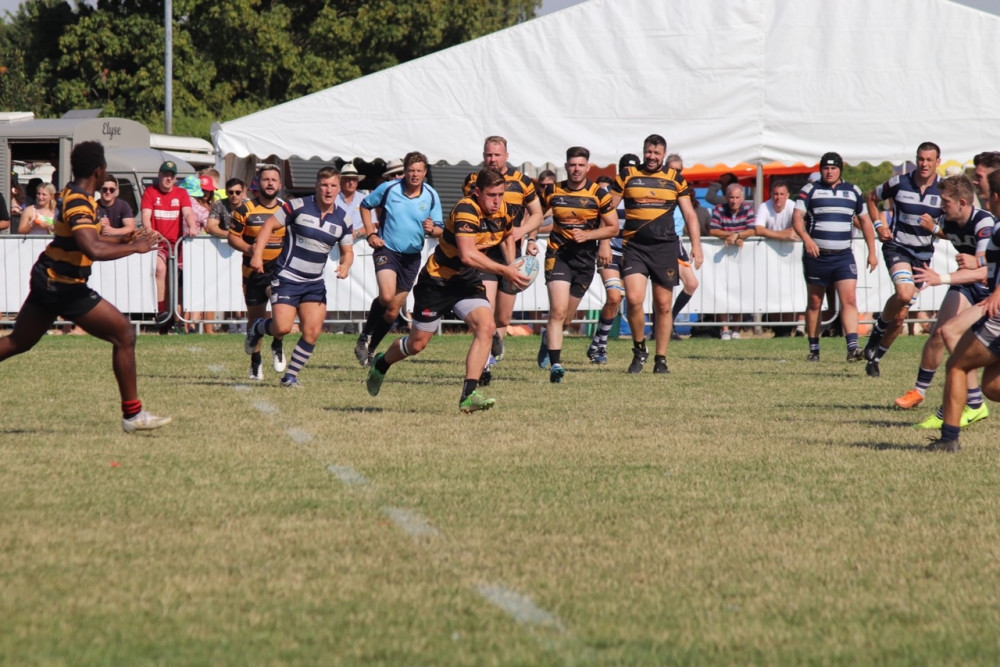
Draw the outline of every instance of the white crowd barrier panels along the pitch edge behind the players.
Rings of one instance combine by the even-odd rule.
[[[51,238],[43,236],[0,236],[0,324],[10,324],[20,309],[29,289],[32,264]],[[423,259],[433,251],[436,241],[424,245]],[[178,266],[178,253],[172,248],[167,277],[172,286],[170,307],[174,313],[203,313],[201,323],[236,322],[226,313],[246,310],[242,290],[242,255],[222,239],[208,236],[185,238],[180,241],[183,267]],[[699,288],[684,312],[713,315],[714,321],[690,322],[691,326],[718,327],[723,324],[742,326],[795,326],[795,322],[765,322],[765,316],[801,313],[806,307],[806,286],[802,276],[802,244],[770,239],[748,239],[742,248],[726,246],[720,239],[702,241],[705,261],[698,273]],[[336,277],[337,251],[327,264],[328,323],[357,324],[378,293],[372,250],[365,243],[354,246],[354,264],[344,280]],[[544,254],[544,248],[539,251]],[[893,293],[888,271],[882,265],[872,273],[867,271],[865,244],[854,242],[858,265],[858,310],[878,312]],[[953,270],[955,251],[950,243],[938,241],[931,266],[940,273]],[[152,324],[156,314],[156,253],[131,255],[111,262],[95,262],[90,285],[123,313],[136,326]],[[178,290],[177,287],[180,286]],[[678,287],[675,293],[680,290]],[[912,312],[937,310],[947,286],[924,289],[917,297]],[[177,298],[179,297],[179,299]],[[181,306],[183,305],[183,308]],[[413,296],[407,300],[407,310]],[[595,274],[590,289],[580,302],[580,310],[590,312],[583,322],[594,322],[594,313],[604,305],[604,285]],[[515,304],[514,323],[544,322],[548,311],[545,280],[539,277],[522,292]],[[651,292],[647,290],[645,310],[652,310]],[[745,321],[731,320],[744,315]],[[693,318],[692,318],[693,319]],[[187,320],[185,320],[187,321]],[[916,320],[913,320],[916,321]]]

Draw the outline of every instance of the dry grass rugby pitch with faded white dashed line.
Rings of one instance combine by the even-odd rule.
[[[364,389],[353,337],[252,384],[236,336],[144,336],[167,428],[125,435],[110,349],[0,365],[0,663],[1000,661],[1000,415],[957,455],[823,340],[671,345],[669,376],[513,339],[461,415],[465,336]],[[650,364],[651,365],[651,364]],[[996,406],[993,406],[996,407]]]

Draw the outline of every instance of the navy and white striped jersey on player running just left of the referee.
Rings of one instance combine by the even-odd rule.
[[[352,245],[354,237],[347,211],[339,204],[322,215],[315,195],[292,199],[274,214],[285,227],[285,247],[274,275],[296,283],[323,280],[326,260],[334,247]]]

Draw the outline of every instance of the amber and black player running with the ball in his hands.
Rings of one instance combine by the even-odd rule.
[[[490,250],[501,244],[505,246],[504,259],[514,254],[514,227],[504,201],[505,192],[503,174],[495,169],[483,169],[476,176],[473,196],[455,205],[413,289],[410,335],[395,341],[385,354],[376,354],[372,360],[366,383],[372,396],[377,396],[381,390],[389,367],[422,352],[437,331],[441,318],[451,311],[465,322],[473,335],[465,358],[465,382],[458,407],[469,413],[489,410],[496,403],[478,390],[496,330],[493,308],[486,298],[481,273],[500,276],[518,290],[527,287],[529,282],[528,276],[517,267],[490,258]]]

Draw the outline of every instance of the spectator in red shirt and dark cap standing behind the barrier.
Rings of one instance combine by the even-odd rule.
[[[167,160],[160,165],[156,184],[146,188],[142,194],[142,226],[159,232],[169,241],[161,243],[156,255],[156,319],[160,323],[160,333],[166,333],[172,324],[167,308],[167,259],[170,248],[177,247],[177,265],[182,265],[178,241],[181,234],[194,236],[198,225],[194,219],[191,198],[177,185],[177,165]]]

